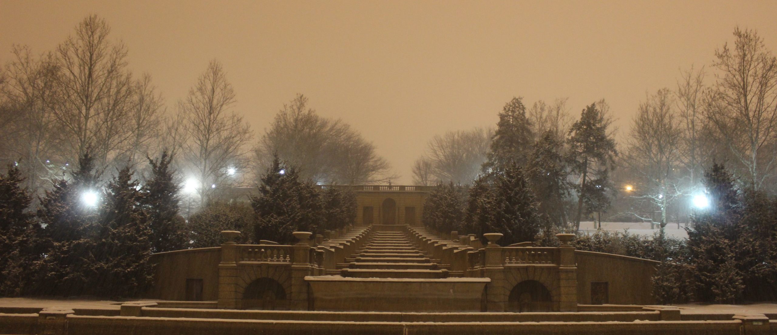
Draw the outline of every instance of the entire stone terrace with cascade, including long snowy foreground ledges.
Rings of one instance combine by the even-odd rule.
[[[154,254],[155,285],[134,302],[13,300],[0,333],[709,333],[777,334],[777,309],[657,306],[656,261],[440,236],[416,218],[419,186],[354,186],[358,226],[298,242]]]

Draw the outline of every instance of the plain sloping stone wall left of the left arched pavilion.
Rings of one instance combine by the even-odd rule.
[[[202,299],[218,299],[221,247],[186,249],[152,254],[154,285],[144,298],[186,300],[186,279],[202,279]]]

